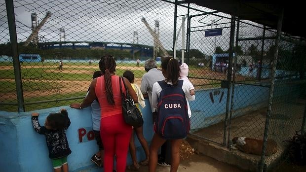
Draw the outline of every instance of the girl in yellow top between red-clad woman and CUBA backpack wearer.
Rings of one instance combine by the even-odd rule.
[[[138,103],[136,103],[136,106],[139,108],[139,105],[141,105],[142,107],[145,107],[145,99],[139,89],[139,87],[134,84],[134,74],[132,71],[126,70],[123,73],[123,77],[125,77],[127,80],[130,81],[133,89],[135,90],[137,96],[138,96]],[[146,153],[146,159],[142,162],[140,162],[140,165],[146,166],[148,165],[149,162],[149,146],[148,146],[148,142],[146,140],[146,138],[144,138],[143,135],[143,127],[138,127],[138,128],[134,128],[134,132],[136,133],[136,136],[139,140],[139,142],[141,143],[145,153]],[[129,148],[130,148],[130,153],[131,153],[131,157],[133,160],[133,165],[128,166],[129,170],[139,170],[139,165],[137,162],[137,158],[136,158],[136,148],[135,148],[135,143],[134,143],[134,135],[132,134],[131,139],[130,139],[130,143],[129,143]]]

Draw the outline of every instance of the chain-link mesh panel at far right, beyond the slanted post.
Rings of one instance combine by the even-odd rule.
[[[305,48],[298,40],[283,37],[278,50],[268,139],[275,140],[278,151],[266,157],[266,164],[278,157],[288,158],[286,146],[296,132],[301,132],[305,102]]]

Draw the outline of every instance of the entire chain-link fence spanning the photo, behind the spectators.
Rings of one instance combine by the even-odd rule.
[[[229,146],[233,137],[263,139],[268,125],[268,138],[282,147],[301,130],[305,113],[305,42],[282,34],[277,47],[275,30],[174,2],[0,2],[0,110],[18,111],[20,103],[31,111],[81,101],[103,55],[115,57],[116,74],[133,71],[139,85],[145,60],[154,58],[159,66],[160,58],[176,54],[189,65],[196,90],[192,135]]]

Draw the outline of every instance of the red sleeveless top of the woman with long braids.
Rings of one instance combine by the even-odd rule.
[[[125,88],[122,81],[121,85],[122,85],[122,92],[125,94]],[[101,118],[105,118],[116,114],[122,114],[122,99],[120,93],[119,76],[117,75],[112,75],[112,88],[113,88],[115,105],[111,105],[110,103],[107,102],[104,76],[97,78],[95,93],[101,107]]]

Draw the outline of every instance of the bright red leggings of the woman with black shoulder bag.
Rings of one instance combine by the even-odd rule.
[[[117,172],[125,172],[132,127],[124,122],[122,114],[117,114],[101,119],[100,135],[104,146],[104,172],[113,172],[115,155]]]

